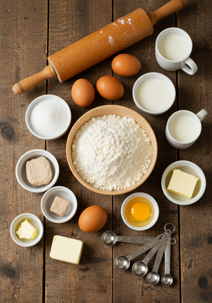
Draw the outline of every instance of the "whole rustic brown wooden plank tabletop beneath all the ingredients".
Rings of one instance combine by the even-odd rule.
[[[72,303],[72,302],[212,302],[212,231],[211,231],[211,49],[212,5],[210,0],[189,0],[179,12],[161,19],[154,26],[154,33],[124,50],[141,61],[140,72],[130,78],[115,75],[124,85],[121,100],[111,102],[96,92],[95,101],[88,108],[77,106],[71,98],[71,87],[78,78],[88,79],[95,87],[98,78],[113,75],[111,61],[95,65],[85,72],[60,83],[57,79],[43,82],[34,89],[15,95],[12,86],[20,79],[45,68],[48,55],[57,52],[82,37],[107,25],[123,15],[141,7],[154,11],[165,0],[2,0],[1,10],[1,228],[0,228],[0,302],[24,303]],[[155,59],[157,35],[168,27],[184,29],[193,41],[191,58],[198,71],[190,76],[183,71],[167,72]],[[147,72],[160,72],[171,79],[177,97],[169,111],[151,116],[142,113],[134,105],[132,87],[136,79]],[[157,223],[147,231],[137,232],[128,228],[121,219],[121,204],[126,195],[98,195],[84,188],[72,175],[66,160],[66,140],[69,131],[55,141],[42,141],[34,137],[26,127],[25,112],[30,102],[44,94],[54,94],[65,99],[71,108],[71,127],[91,108],[99,105],[118,104],[139,112],[152,126],[157,142],[156,166],[144,184],[134,190],[152,195],[160,209]],[[187,109],[194,113],[202,108],[208,111],[202,122],[202,132],[197,142],[185,150],[176,150],[165,139],[168,117],[177,110]],[[70,127],[70,129],[71,129]],[[69,130],[70,130],[69,129]],[[43,216],[40,201],[43,194],[23,189],[15,177],[15,166],[26,151],[41,148],[51,152],[58,160],[60,176],[56,185],[70,188],[78,200],[74,218],[64,224],[55,224]],[[202,198],[195,204],[177,206],[168,201],[161,189],[164,169],[176,160],[189,160],[204,171],[207,187]],[[92,234],[78,227],[81,212],[90,205],[101,205],[108,213],[108,220],[101,231]],[[43,222],[45,233],[42,241],[31,248],[18,246],[10,236],[12,220],[29,212]],[[103,231],[113,230],[123,235],[155,236],[163,232],[164,225],[176,226],[174,237],[177,244],[171,251],[171,275],[174,282],[165,287],[155,286],[146,278],[135,277],[131,270],[120,272],[114,268],[114,258],[128,255],[138,248],[134,244],[119,243],[105,247],[101,242]],[[53,260],[49,257],[54,235],[63,235],[84,241],[79,265]],[[139,258],[136,258],[137,261]],[[154,261],[154,259],[153,259]],[[153,268],[150,261],[149,268]],[[159,268],[164,272],[164,260]]]

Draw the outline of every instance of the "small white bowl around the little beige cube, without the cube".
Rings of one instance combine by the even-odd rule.
[[[63,217],[54,215],[50,211],[51,205],[56,196],[66,199],[70,202],[67,211],[65,212],[65,215]],[[42,213],[49,221],[54,223],[64,223],[69,221],[71,218],[74,217],[76,210],[77,210],[77,199],[75,197],[75,194],[70,189],[64,186],[52,187],[47,192],[45,192],[43,198],[41,199]]]

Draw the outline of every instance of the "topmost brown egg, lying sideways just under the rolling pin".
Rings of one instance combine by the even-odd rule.
[[[141,63],[133,55],[121,54],[113,59],[112,69],[119,76],[131,77],[140,71]]]

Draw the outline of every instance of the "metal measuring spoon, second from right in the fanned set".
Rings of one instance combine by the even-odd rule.
[[[171,231],[169,229],[167,229],[167,232],[171,232]],[[171,235],[169,235],[169,237],[171,238]],[[168,241],[168,239],[167,239],[167,241]],[[163,254],[164,254],[164,250],[166,248],[167,241],[164,241],[162,243],[161,247],[158,249],[153,271],[149,272],[147,275],[147,282],[151,285],[155,285],[160,281],[160,277],[159,277],[157,271],[158,271],[159,265],[161,263]],[[176,243],[176,240],[175,240],[175,243]],[[175,243],[173,243],[173,244],[175,244]]]

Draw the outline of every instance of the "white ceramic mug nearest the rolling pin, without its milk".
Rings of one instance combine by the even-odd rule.
[[[166,58],[164,58],[161,53],[159,52],[159,44],[161,42],[161,39],[163,39],[166,35],[169,34],[177,34],[183,37],[188,45],[188,52],[186,56],[180,60],[180,61],[171,61]],[[176,28],[176,27],[170,27],[164,29],[156,39],[155,43],[155,56],[157,59],[157,63],[167,71],[177,71],[178,69],[182,69],[184,72],[186,72],[189,75],[194,75],[195,72],[197,72],[197,65],[196,63],[190,58],[190,54],[192,51],[192,41],[190,36],[182,30],[181,28]],[[188,66],[190,67],[188,67]]]

